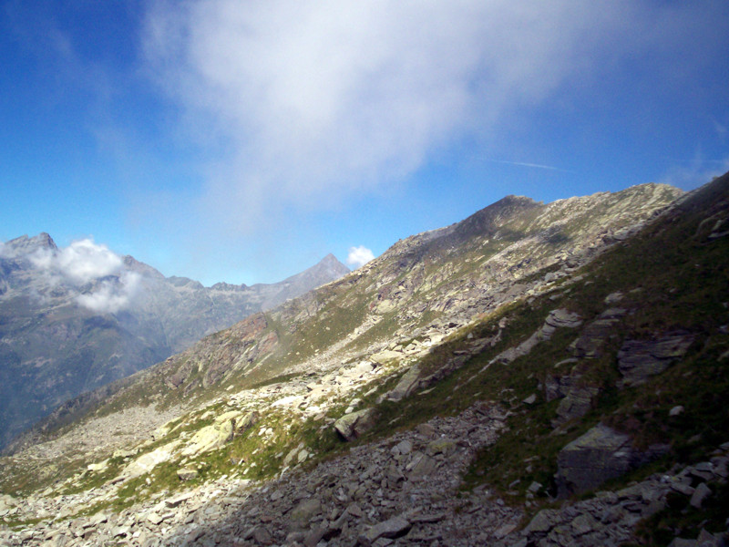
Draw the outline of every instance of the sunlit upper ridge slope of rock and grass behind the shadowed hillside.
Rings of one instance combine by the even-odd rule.
[[[106,391],[105,409],[97,411],[149,397],[162,405],[210,399],[370,356],[403,366],[458,326],[589,262],[680,194],[647,184],[547,205],[510,196],[463,222],[395,243],[334,283],[210,335],[115,395]],[[70,405],[74,413],[78,407]]]

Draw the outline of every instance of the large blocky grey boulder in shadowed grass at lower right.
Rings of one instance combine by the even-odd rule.
[[[561,498],[592,490],[620,477],[640,461],[631,438],[599,424],[560,450],[557,487]]]

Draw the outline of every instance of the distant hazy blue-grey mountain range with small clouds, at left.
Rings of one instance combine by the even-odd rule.
[[[0,447],[64,401],[349,272],[333,255],[276,284],[204,287],[47,233],[0,247]]]

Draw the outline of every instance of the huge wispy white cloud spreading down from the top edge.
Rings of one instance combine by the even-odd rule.
[[[143,40],[190,134],[224,150],[208,215],[251,228],[496,139],[515,110],[626,57],[694,63],[689,37],[724,9],[697,4],[159,0]]]

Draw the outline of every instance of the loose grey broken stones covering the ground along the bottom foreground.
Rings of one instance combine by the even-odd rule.
[[[670,494],[701,507],[711,494],[707,483],[729,477],[725,443],[710,461],[653,475],[617,492],[598,492],[585,501],[565,501],[524,521],[523,509],[508,507],[485,486],[459,490],[467,463],[477,448],[497,438],[504,418],[499,408],[481,403],[455,418],[433,418],[415,430],[356,446],[308,472],[264,483],[222,477],[171,497],[161,492],[120,513],[67,518],[73,506],[88,502],[88,494],[30,499],[24,504],[38,505],[36,511],[43,504],[42,511],[56,518],[20,531],[0,529],[0,544],[620,545],[632,539],[638,521],[665,507]],[[104,487],[108,493],[111,488]],[[0,513],[17,509],[12,499],[0,499]],[[723,537],[708,532],[699,540],[701,545],[724,544]]]

